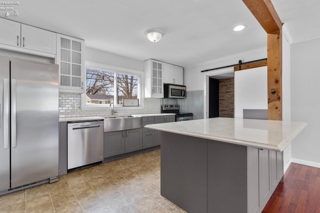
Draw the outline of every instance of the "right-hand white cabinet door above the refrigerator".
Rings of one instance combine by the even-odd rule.
[[[56,33],[21,24],[21,47],[55,54]]]

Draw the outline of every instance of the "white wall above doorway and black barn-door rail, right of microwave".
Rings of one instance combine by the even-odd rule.
[[[239,60],[242,62],[258,60],[266,58],[266,48],[256,49],[248,52],[243,52],[228,57],[220,58],[217,60],[209,61],[203,64],[183,68],[183,84],[186,86],[187,91],[203,90],[205,73],[201,70],[212,69],[231,64],[237,64]],[[232,69],[232,68],[231,68]],[[219,72],[219,70],[215,70]],[[213,72],[215,72],[213,71]]]

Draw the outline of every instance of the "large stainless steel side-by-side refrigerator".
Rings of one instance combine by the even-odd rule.
[[[0,195],[57,176],[58,65],[0,56]]]

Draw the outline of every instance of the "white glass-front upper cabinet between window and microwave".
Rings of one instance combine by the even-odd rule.
[[[163,98],[163,62],[148,59],[144,61],[144,97]]]

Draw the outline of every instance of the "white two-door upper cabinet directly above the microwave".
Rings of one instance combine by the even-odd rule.
[[[163,83],[183,85],[183,67],[163,63]]]

